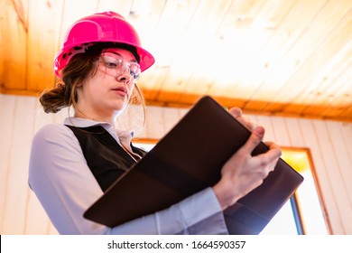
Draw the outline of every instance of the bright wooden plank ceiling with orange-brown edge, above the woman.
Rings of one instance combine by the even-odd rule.
[[[52,87],[63,32],[107,10],[156,58],[138,82],[149,105],[208,94],[245,112],[352,121],[351,0],[1,0],[1,93]]]

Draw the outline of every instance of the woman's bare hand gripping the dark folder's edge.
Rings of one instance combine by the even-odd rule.
[[[221,179],[213,186],[223,210],[263,183],[264,178],[273,171],[282,154],[279,146],[266,143],[269,147],[266,153],[252,156],[252,151],[263,140],[264,128],[262,126],[255,127],[245,121],[240,110],[231,109],[230,113],[238,120],[243,120],[243,124],[247,124],[248,128],[254,128],[245,145],[238,149],[224,164],[221,170]]]

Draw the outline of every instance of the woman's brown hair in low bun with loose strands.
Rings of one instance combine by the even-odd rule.
[[[76,108],[79,99],[77,96],[77,87],[79,84],[83,83],[88,77],[88,74],[91,74],[91,76],[96,74],[97,67],[94,62],[97,61],[104,48],[107,48],[107,45],[105,47],[97,47],[95,45],[93,49],[88,50],[85,53],[78,53],[72,57],[66,67],[62,70],[62,80],[58,80],[55,88],[44,90],[39,98],[42,108],[46,113],[57,113],[62,108],[69,108],[70,106]],[[143,117],[142,122],[140,122],[143,128],[145,125],[145,103],[142,92],[138,89],[137,85],[134,85],[134,90],[129,99],[129,105],[130,104],[133,104],[134,106],[138,105],[142,108],[142,112],[139,114],[142,114]],[[128,106],[125,110],[127,109]],[[125,113],[125,115],[128,115],[129,117],[132,116],[131,113]]]

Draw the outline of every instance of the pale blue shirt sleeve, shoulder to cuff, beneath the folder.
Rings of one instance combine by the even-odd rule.
[[[60,234],[227,234],[211,188],[115,228],[86,220],[84,211],[103,192],[67,126],[43,126],[33,137],[29,184]]]

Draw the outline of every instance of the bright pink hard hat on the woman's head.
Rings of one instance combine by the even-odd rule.
[[[73,23],[61,43],[54,59],[54,71],[61,77],[73,55],[85,52],[89,46],[100,42],[111,42],[133,47],[141,71],[147,70],[154,63],[153,55],[144,50],[134,27],[125,18],[114,12],[88,15]]]

